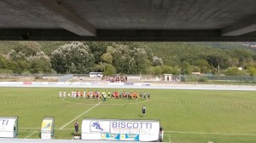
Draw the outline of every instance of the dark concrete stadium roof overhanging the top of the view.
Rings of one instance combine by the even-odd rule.
[[[255,0],[0,0],[0,40],[256,41]]]

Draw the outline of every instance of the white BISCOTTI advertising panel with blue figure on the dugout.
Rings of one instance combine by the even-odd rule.
[[[154,141],[160,122],[154,120],[87,119],[82,123],[82,140]]]

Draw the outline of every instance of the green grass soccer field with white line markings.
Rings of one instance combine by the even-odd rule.
[[[255,143],[256,92],[124,89],[150,92],[151,100],[61,100],[59,91],[84,89],[0,88],[0,117],[19,117],[19,138],[40,138],[43,118],[55,117],[55,139],[73,139],[84,117],[160,120],[164,141]],[[89,89],[85,89],[88,91]],[[91,89],[90,89],[91,90]],[[92,89],[123,91],[123,89]],[[147,107],[142,116],[142,106]]]

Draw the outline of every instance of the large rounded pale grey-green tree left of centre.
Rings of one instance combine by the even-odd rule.
[[[89,73],[94,67],[94,56],[84,43],[66,43],[50,55],[50,63],[58,73]]]

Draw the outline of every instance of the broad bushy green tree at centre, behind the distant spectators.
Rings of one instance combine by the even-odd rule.
[[[150,51],[148,52],[143,44],[121,44],[113,43],[107,48],[107,54],[102,54],[102,61],[110,63],[113,57],[112,65],[117,73],[125,74],[146,74],[148,66],[152,59]],[[109,55],[111,54],[111,56]]]

